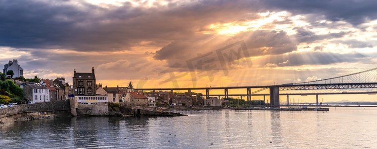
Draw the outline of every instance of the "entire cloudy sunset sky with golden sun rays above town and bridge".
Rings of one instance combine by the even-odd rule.
[[[137,88],[310,81],[377,67],[376,5],[376,0],[0,0],[0,62],[17,59],[25,77],[68,81],[74,69],[94,67],[97,83],[132,81]],[[365,98],[371,97],[376,98]]]

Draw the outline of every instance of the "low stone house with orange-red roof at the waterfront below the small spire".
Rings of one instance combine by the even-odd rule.
[[[125,102],[128,102],[129,106],[148,106],[148,97],[141,91],[128,92],[125,97]]]

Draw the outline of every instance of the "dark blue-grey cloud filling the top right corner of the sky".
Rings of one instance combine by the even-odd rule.
[[[270,9],[295,14],[324,15],[331,21],[345,20],[359,25],[377,18],[377,0],[262,0]]]

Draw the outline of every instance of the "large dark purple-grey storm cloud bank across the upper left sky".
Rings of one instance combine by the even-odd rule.
[[[83,1],[2,0],[0,46],[78,51],[129,50],[141,41],[162,46],[209,23],[255,18],[247,1],[201,1],[158,8],[104,8]]]

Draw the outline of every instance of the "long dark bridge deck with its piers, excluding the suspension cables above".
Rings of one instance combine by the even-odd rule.
[[[108,87],[108,88],[117,88],[117,87]],[[126,87],[118,87],[118,89],[125,89]],[[251,88],[262,88],[255,92],[259,92],[264,89],[270,89],[270,94],[255,94],[255,92],[251,92]],[[269,95],[270,96],[270,104],[272,107],[279,108],[280,107],[280,95],[316,95],[316,101],[318,105],[318,95],[321,94],[375,94],[376,92],[340,92],[340,93],[289,93],[289,94],[280,94],[280,90],[313,90],[313,89],[354,89],[354,88],[377,88],[377,82],[364,82],[364,83],[319,83],[319,84],[281,84],[281,85],[261,85],[261,86],[227,86],[227,87],[183,87],[183,88],[135,88],[134,90],[139,91],[159,91],[159,90],[170,90],[173,92],[174,90],[205,90],[205,97],[209,98],[209,96],[224,96],[225,98],[229,96],[247,96],[247,100],[251,100],[251,96],[258,96],[258,95]],[[224,89],[224,94],[215,95],[210,94],[210,90],[214,89]],[[246,94],[229,94],[229,89],[247,89]],[[287,103],[289,103],[289,99],[287,99]]]

